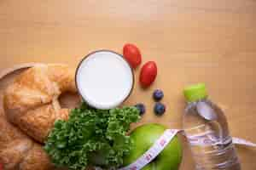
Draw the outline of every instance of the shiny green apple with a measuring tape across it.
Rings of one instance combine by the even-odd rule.
[[[164,133],[166,127],[160,124],[150,123],[137,127],[131,132],[133,141],[131,152],[125,156],[124,166],[136,161],[137,158],[143,155]],[[182,161],[182,144],[177,136],[175,136],[166,148],[160,152],[153,161],[143,170],[177,170]]]

